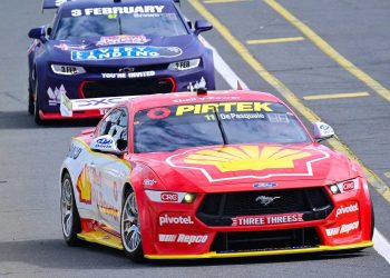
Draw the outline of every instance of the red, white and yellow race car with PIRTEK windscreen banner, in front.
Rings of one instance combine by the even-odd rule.
[[[116,105],[114,105],[116,103]],[[114,106],[114,107],[113,107]],[[276,97],[243,90],[70,100],[107,109],[72,138],[61,224],[134,260],[287,255],[371,247],[373,210],[355,161],[313,137]]]

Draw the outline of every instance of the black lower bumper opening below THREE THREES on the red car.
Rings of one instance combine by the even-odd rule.
[[[320,245],[314,228],[218,232],[211,251],[241,252],[312,248]]]

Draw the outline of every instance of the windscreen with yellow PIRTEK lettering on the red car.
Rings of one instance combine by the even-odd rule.
[[[134,119],[134,151],[174,151],[226,143],[310,142],[300,121],[276,102],[215,102],[140,110]]]

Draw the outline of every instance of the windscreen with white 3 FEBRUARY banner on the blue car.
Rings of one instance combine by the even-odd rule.
[[[116,6],[64,10],[53,39],[88,39],[119,34],[175,37],[188,32],[174,7]]]

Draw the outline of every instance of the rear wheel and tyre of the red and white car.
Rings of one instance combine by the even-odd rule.
[[[69,246],[80,245],[81,240],[77,238],[77,234],[81,231],[80,216],[68,172],[64,175],[61,182],[61,226],[65,241]]]

